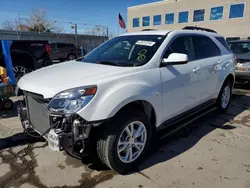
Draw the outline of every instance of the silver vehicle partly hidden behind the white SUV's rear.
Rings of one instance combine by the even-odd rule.
[[[236,57],[236,81],[250,81],[250,40],[236,40],[229,42]]]

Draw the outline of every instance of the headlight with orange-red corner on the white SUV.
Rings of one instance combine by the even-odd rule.
[[[48,104],[48,112],[71,114],[86,106],[96,94],[97,87],[82,87],[58,93]]]

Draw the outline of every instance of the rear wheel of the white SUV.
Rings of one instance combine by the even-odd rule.
[[[221,87],[220,94],[216,101],[216,106],[219,111],[226,112],[231,101],[232,97],[232,83],[229,80],[226,80]]]

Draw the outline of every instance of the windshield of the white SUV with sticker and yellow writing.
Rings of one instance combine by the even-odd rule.
[[[165,36],[137,35],[115,37],[99,46],[82,61],[113,66],[141,66],[149,62]]]

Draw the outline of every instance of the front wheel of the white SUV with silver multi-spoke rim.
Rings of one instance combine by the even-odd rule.
[[[130,126],[129,129],[131,130],[131,123],[134,123],[134,130],[138,131],[139,127],[142,127],[141,130],[144,130],[144,132],[141,132],[141,136],[137,137],[137,140],[130,139],[128,136],[125,139],[125,136],[128,135],[128,133],[125,131],[125,128]],[[115,117],[112,120],[111,124],[104,125],[103,128],[104,129],[101,133],[101,138],[97,140],[97,154],[100,160],[107,167],[117,171],[120,174],[124,174],[133,169],[136,169],[143,161],[144,156],[147,154],[152,139],[152,127],[150,125],[148,117],[143,113],[122,113],[119,116]],[[134,132],[134,137],[136,135],[136,131]],[[128,144],[121,144],[122,142],[119,141],[122,140],[124,141],[124,143],[130,141],[134,142],[132,144],[134,146],[129,146]],[[144,146],[136,144],[143,142],[145,143]],[[126,145],[127,148],[125,148]],[[124,148],[120,153],[118,152],[119,147],[120,150]],[[139,151],[138,148],[141,150]],[[131,151],[132,153],[134,152],[134,156],[130,155]],[[136,155],[135,151],[137,151],[138,156]],[[127,155],[127,153],[129,154]]]

